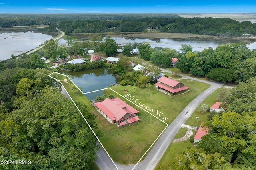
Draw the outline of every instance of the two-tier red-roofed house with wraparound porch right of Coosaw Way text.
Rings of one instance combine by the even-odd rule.
[[[188,91],[189,87],[176,80],[162,76],[155,83],[155,87],[168,95],[178,95]]]

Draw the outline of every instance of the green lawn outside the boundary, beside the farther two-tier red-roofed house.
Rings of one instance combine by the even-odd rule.
[[[148,88],[136,87],[135,93],[132,91],[135,86],[115,86],[111,88],[121,95],[125,95],[124,90],[128,90],[128,93],[134,96],[133,102],[150,107],[154,110],[151,111],[153,115],[170,124],[196,96],[210,87],[209,84],[194,80],[182,79],[180,81],[185,86],[190,87],[190,91],[176,96],[168,96],[154,87],[150,88],[150,91],[148,91]],[[110,90],[106,90],[105,93],[114,94]]]

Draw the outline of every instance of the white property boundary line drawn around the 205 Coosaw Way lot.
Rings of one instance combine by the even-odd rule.
[[[64,75],[64,74],[61,74],[61,73],[58,73],[58,72],[53,72],[51,74],[49,74],[48,76],[50,78],[53,78],[54,80],[60,82],[60,84],[62,85],[62,87],[64,88],[64,90],[66,91],[66,93],[68,94],[66,88],[63,86],[62,82],[54,77],[52,77],[51,75],[52,74],[60,74],[62,76],[66,76],[73,84],[74,82],[67,76],[67,75]],[[76,84],[74,84],[76,86]],[[76,88],[78,88],[78,86],[76,86]],[[113,90],[112,88],[103,88],[103,89],[100,89],[100,90],[94,90],[92,92],[98,92],[98,91],[101,91],[101,90],[106,90],[106,89],[110,89],[112,90],[113,92],[115,92],[116,94],[122,96],[121,94],[119,94],[118,92],[116,92],[115,90]],[[83,93],[79,88],[78,90],[82,93],[82,94],[88,94],[88,93],[92,93],[92,92],[86,92],[86,93]],[[68,94],[68,96],[70,97],[70,99],[72,100],[72,102],[74,103],[74,105],[76,106],[74,100],[71,98],[71,96]],[[128,100],[129,102],[131,102],[132,104],[134,104],[135,106],[138,106],[137,104],[135,104],[134,102],[132,102],[131,100],[129,100],[128,98],[122,96],[123,98],[125,98],[126,100]],[[150,115],[152,115],[153,117],[155,117],[156,119],[162,121],[161,119],[159,119],[158,117],[156,117],[155,115],[153,115],[152,113],[148,112],[147,110],[145,110],[144,108],[138,106],[140,109],[146,111],[146,113],[149,113]],[[82,112],[80,111],[80,109],[76,106],[76,108],[78,109],[79,113],[82,115],[82,117],[84,118],[84,121],[86,121],[84,115],[82,114]],[[152,145],[150,145],[150,147],[148,148],[148,150],[142,155],[142,157],[140,158],[140,160],[135,164],[135,166],[132,168],[132,170],[134,170],[134,168],[138,165],[138,163],[142,160],[142,158],[148,153],[148,151],[152,148],[152,146],[156,143],[156,141],[158,140],[158,138],[162,135],[162,133],[164,133],[165,129],[168,127],[168,123],[162,121],[164,124],[166,124],[166,127],[164,128],[164,130],[160,133],[160,135],[158,135],[158,137],[156,138],[156,140],[152,143]],[[97,137],[96,133],[94,133],[92,127],[89,125],[88,121],[86,121],[87,125],[90,127],[92,133],[94,134],[94,136],[96,137],[96,139],[99,141],[100,145],[102,146],[102,148],[105,150],[105,152],[107,153],[108,157],[110,158],[110,160],[113,162],[113,164],[115,165],[116,169],[118,169],[118,167],[116,166],[115,162],[112,160],[112,158],[110,157],[110,155],[108,154],[107,150],[104,148],[104,146],[102,145],[102,143],[100,142],[100,139]],[[119,169],[118,169],[119,170]]]

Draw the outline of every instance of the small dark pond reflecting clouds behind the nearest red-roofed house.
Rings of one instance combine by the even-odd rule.
[[[120,82],[119,78],[112,75],[112,72],[106,68],[97,68],[93,70],[86,70],[81,72],[60,72],[65,75],[69,75],[76,86],[82,87],[82,92],[92,92],[107,88],[110,84]],[[92,92],[85,94],[89,100],[95,99],[97,96],[102,96],[103,90],[98,92]]]

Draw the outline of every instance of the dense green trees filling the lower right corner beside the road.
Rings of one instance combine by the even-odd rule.
[[[241,82],[222,98],[226,111],[209,113],[208,134],[167,167],[157,170],[254,170],[256,168],[256,77]],[[222,87],[224,88],[224,87]],[[220,94],[222,95],[222,94]]]

